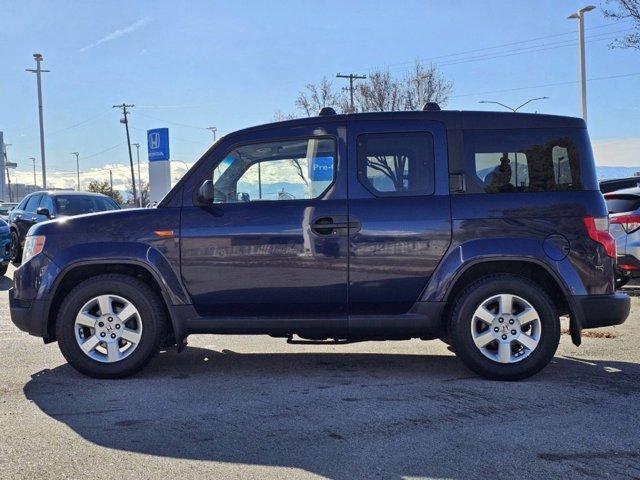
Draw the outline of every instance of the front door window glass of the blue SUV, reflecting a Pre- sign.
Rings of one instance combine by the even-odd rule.
[[[214,202],[320,197],[335,177],[335,142],[328,138],[244,145],[214,169]]]

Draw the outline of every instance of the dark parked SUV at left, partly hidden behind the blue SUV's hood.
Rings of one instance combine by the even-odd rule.
[[[9,212],[11,260],[16,263],[21,261],[27,232],[37,223],[55,218],[119,209],[120,206],[113,199],[101,193],[61,190],[41,191],[27,195]]]

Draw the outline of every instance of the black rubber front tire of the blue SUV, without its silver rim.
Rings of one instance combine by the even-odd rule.
[[[119,295],[137,309],[144,328],[131,354],[114,363],[102,363],[86,355],[75,338],[75,318],[83,305],[104,294]],[[58,346],[64,358],[80,373],[94,378],[122,378],[142,369],[158,352],[167,336],[167,319],[162,300],[146,283],[121,274],[89,278],[64,298],[56,319]]]

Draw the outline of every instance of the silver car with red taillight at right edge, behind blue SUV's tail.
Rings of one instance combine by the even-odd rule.
[[[616,287],[640,278],[640,188],[632,187],[606,193],[609,232],[616,240],[618,262]]]

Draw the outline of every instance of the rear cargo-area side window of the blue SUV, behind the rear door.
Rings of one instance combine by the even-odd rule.
[[[471,177],[467,193],[597,189],[591,146],[582,130],[470,131],[464,145]]]

